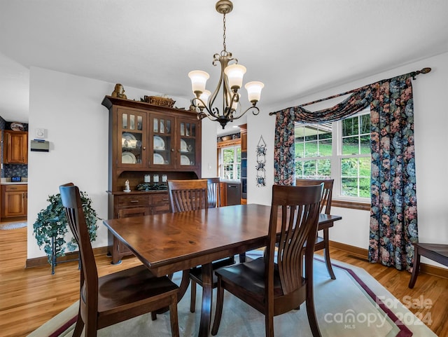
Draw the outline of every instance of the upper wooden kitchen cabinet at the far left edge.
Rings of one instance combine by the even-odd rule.
[[[3,163],[28,163],[28,132],[3,130]]]

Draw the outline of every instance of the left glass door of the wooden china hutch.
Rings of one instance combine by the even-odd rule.
[[[120,109],[118,114],[118,163],[125,167],[143,167],[146,149],[146,116]]]

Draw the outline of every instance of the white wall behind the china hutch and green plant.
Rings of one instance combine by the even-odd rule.
[[[122,83],[128,99],[158,95]],[[92,198],[100,218],[107,218],[109,111],[101,102],[115,83],[32,67],[30,71],[29,138],[36,128],[48,132],[50,152],[29,152],[28,158],[28,259],[45,256],[36,245],[33,223],[47,207],[48,195],[72,181]],[[186,99],[175,106],[188,109]],[[216,139],[216,135],[214,137]],[[99,221],[94,247],[107,245],[106,228]]]

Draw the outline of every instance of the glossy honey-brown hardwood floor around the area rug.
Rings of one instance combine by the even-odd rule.
[[[368,263],[337,249],[332,259],[364,268],[414,313],[421,317],[437,336],[448,336],[448,280],[419,275],[414,289],[409,289],[410,274],[377,263]],[[77,262],[61,263],[51,275],[50,265],[25,269],[27,228],[0,231],[0,335],[22,337],[69,307],[79,296]],[[128,257],[113,266],[105,255],[97,256],[99,275],[136,266],[139,261]],[[426,308],[423,308],[426,307]],[[429,321],[430,319],[430,321]]]

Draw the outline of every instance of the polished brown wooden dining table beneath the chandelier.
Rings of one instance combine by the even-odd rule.
[[[192,212],[104,220],[104,225],[155,275],[202,265],[202,309],[198,336],[209,336],[213,275],[211,262],[267,245],[270,206],[234,205]],[[319,228],[341,216],[320,214]],[[190,280],[183,273],[179,301]]]

